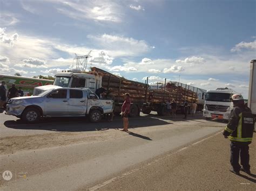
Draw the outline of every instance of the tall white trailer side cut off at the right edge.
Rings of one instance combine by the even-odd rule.
[[[256,117],[256,60],[251,61],[248,107]]]

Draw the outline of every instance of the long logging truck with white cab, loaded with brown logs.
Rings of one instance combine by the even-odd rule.
[[[89,88],[92,92],[103,87],[106,90],[106,98],[114,101],[114,114],[119,115],[124,102],[124,94],[129,93],[131,98],[130,117],[139,116],[140,111],[150,114],[157,111],[158,115],[166,115],[166,102],[177,101],[177,110],[183,112],[184,102],[198,102],[197,93],[190,88],[184,88],[178,84],[167,82],[159,89],[152,89],[148,84],[127,80],[124,77],[113,75],[105,70],[92,67],[90,72],[80,70],[63,70],[55,75],[55,81],[51,86],[42,86],[34,89],[33,95],[56,87],[65,88]],[[189,86],[188,86],[189,87]],[[189,105],[190,106],[190,105]]]

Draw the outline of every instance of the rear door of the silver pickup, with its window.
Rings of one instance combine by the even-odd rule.
[[[87,97],[83,90],[69,90],[69,114],[83,115],[86,112]]]

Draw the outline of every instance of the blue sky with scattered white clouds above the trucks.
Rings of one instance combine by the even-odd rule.
[[[55,75],[92,51],[86,69],[247,97],[255,12],[255,0],[0,0],[0,74]]]

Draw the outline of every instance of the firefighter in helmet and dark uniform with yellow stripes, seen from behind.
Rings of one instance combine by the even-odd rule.
[[[240,174],[240,170],[251,174],[249,144],[252,143],[254,118],[250,108],[245,106],[242,95],[234,94],[232,96],[234,109],[231,111],[228,124],[223,132],[225,138],[231,140],[230,144],[230,171]],[[239,154],[241,165],[239,164]]]

